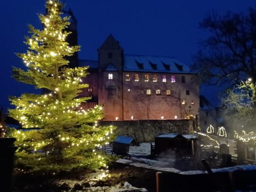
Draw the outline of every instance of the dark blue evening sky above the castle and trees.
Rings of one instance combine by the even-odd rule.
[[[62,0],[64,1],[64,0]],[[97,48],[112,33],[125,54],[175,56],[185,64],[192,62],[200,39],[208,33],[198,28],[207,12],[246,12],[253,0],[65,0],[78,21],[81,59],[97,59]],[[37,14],[44,14],[44,0],[1,2],[0,106],[10,106],[8,95],[32,92],[33,87],[11,78],[12,66],[24,67],[15,53],[27,50],[24,37],[28,24],[41,29]],[[208,91],[211,90],[211,91]],[[201,93],[216,103],[214,89]]]

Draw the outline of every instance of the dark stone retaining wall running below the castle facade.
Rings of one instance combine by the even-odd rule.
[[[159,133],[194,133],[193,120],[99,121],[99,125],[117,126],[119,136],[133,137],[136,142],[154,142]]]

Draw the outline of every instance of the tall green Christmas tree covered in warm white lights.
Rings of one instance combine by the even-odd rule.
[[[44,28],[29,25],[28,51],[18,54],[27,69],[14,68],[16,80],[49,90],[10,98],[16,108],[9,115],[29,129],[12,133],[19,147],[16,165],[27,171],[49,172],[106,168],[109,156],[95,149],[113,139],[114,127],[97,125],[103,117],[101,106],[81,107],[90,99],[78,97],[88,87],[81,80],[87,68],[68,68],[67,56],[79,51],[79,46],[66,42],[69,18],[61,16],[62,4],[57,0],[47,1],[46,10],[46,15],[39,15]]]

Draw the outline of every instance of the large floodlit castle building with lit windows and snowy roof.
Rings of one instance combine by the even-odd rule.
[[[85,108],[100,104],[103,120],[186,119],[199,111],[199,86],[188,66],[166,56],[127,55],[110,34],[98,48],[98,61],[89,66],[81,96],[92,99]]]

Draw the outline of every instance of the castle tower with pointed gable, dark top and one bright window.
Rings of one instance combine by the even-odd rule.
[[[98,48],[98,104],[105,118],[123,120],[123,48],[112,34]]]

